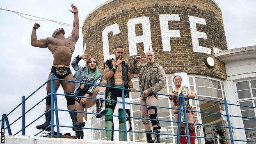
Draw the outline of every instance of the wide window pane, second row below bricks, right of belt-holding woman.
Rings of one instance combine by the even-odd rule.
[[[202,96],[213,96],[222,98],[222,91],[218,89],[211,89],[207,87],[197,87],[197,94]]]

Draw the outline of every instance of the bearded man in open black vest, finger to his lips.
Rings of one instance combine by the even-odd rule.
[[[130,67],[129,65],[122,60],[124,55],[124,48],[123,46],[117,46],[114,48],[114,55],[115,58],[108,59],[104,65],[104,75],[105,80],[107,80],[107,86],[112,87],[119,87],[121,88],[121,84],[123,84],[124,88],[130,89],[131,92],[134,92],[135,89],[133,88],[133,82],[130,76]],[[122,90],[121,89],[114,89],[114,88],[106,88],[106,99],[117,101],[117,97],[122,97]],[[124,91],[125,98],[129,98],[129,92]],[[117,105],[117,102],[106,101],[105,108],[107,109],[107,114],[113,115],[114,108]],[[126,110],[128,116],[130,115],[129,110]],[[118,115],[123,116],[123,109],[118,110]],[[124,129],[124,120],[123,117],[118,117],[119,120],[119,130]],[[129,120],[129,119],[128,119]],[[114,129],[113,123],[113,116],[105,116],[105,128],[106,129]],[[114,131],[107,130],[107,140],[114,139]],[[119,131],[119,140],[125,140],[125,132]]]

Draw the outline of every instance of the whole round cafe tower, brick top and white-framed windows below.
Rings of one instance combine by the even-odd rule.
[[[103,73],[104,62],[113,57],[114,47],[125,48],[123,60],[130,63],[134,57],[151,48],[155,52],[155,62],[160,64],[167,74],[166,86],[159,93],[167,94],[173,89],[174,73],[186,73],[185,79],[200,99],[223,101],[226,80],[225,65],[215,58],[216,51],[227,50],[222,12],[213,0],[109,0],[98,6],[85,18],[83,23],[83,45],[85,53],[96,57],[99,69]],[[212,57],[214,66],[205,62]],[[145,63],[142,59],[140,64]],[[138,87],[138,75],[133,75],[133,85]],[[130,94],[132,102],[139,101],[139,94]],[[158,105],[172,106],[167,97],[158,98]],[[222,106],[216,103],[192,101],[194,110],[220,112]],[[131,115],[140,117],[139,107],[131,106]],[[159,119],[173,120],[169,109],[159,109]],[[195,114],[196,123],[211,123],[225,126],[220,116]],[[105,128],[102,119],[92,115],[91,127]],[[117,124],[118,125],[118,124]],[[132,119],[133,130],[144,131],[139,119]],[[161,133],[176,134],[176,123],[161,123]],[[118,128],[115,128],[118,129]],[[216,128],[196,126],[198,136],[217,137]],[[218,137],[227,137],[224,128],[220,128]],[[91,130],[89,139],[106,139],[104,131]],[[173,143],[176,137],[161,135],[161,142]],[[115,139],[118,139],[115,135]],[[128,133],[129,141],[145,142],[141,133]],[[197,139],[198,144],[211,142]]]

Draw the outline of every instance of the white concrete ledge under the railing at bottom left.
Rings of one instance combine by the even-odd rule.
[[[5,144],[145,144],[145,143],[5,135]]]

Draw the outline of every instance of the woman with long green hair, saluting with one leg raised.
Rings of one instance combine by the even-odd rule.
[[[79,66],[78,62],[81,60],[87,60],[85,66]],[[75,107],[77,111],[83,112],[84,108],[90,108],[96,103],[97,113],[98,115],[96,118],[101,118],[103,114],[107,113],[107,109],[102,110],[104,98],[105,98],[105,91],[103,87],[99,87],[97,85],[101,85],[102,76],[98,70],[98,61],[94,57],[89,57],[87,54],[78,55],[75,57],[73,62],[71,63],[73,69],[75,69],[74,79],[77,82],[86,82],[90,84],[96,85],[89,85],[89,84],[81,84],[75,83],[75,95],[76,96],[84,96],[90,98],[100,98],[103,100],[95,100],[90,98],[75,98]],[[77,114],[78,121],[83,121],[83,113]],[[75,131],[75,135],[83,139],[83,129],[78,129]]]

